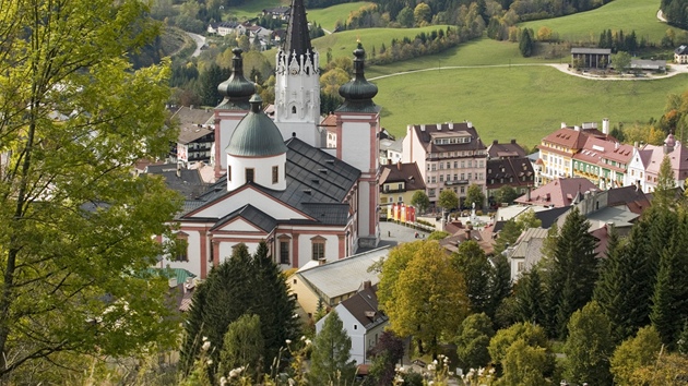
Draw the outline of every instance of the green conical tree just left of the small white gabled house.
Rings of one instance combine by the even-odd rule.
[[[351,360],[352,339],[336,311],[324,319],[322,330],[316,336],[310,355],[308,378],[313,385],[347,383],[354,379],[356,364]]]

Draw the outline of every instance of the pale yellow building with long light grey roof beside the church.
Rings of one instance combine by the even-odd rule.
[[[361,281],[377,285],[380,278],[368,268],[385,258],[391,248],[383,246],[333,262],[309,262],[287,281],[298,303],[297,313],[311,318],[321,303],[331,310],[356,294]]]

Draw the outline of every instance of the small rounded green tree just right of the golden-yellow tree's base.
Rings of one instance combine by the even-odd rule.
[[[463,369],[485,367],[489,363],[487,347],[495,336],[493,322],[485,313],[472,314],[461,323],[456,336],[456,354]]]

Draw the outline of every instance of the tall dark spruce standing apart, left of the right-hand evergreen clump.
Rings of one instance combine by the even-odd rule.
[[[590,222],[573,207],[557,238],[547,288],[553,307],[548,312],[556,315],[549,333],[559,337],[566,336],[571,314],[591,300],[597,278],[597,240],[589,229]]]

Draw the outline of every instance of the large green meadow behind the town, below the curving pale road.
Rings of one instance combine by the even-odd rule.
[[[442,69],[375,81],[382,125],[405,135],[407,124],[471,121],[486,144],[517,138],[533,146],[561,122],[612,125],[659,118],[688,74],[654,81],[591,81],[549,67]]]

